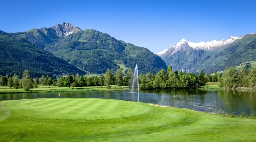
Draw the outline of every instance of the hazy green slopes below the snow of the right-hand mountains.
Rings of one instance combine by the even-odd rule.
[[[256,35],[247,34],[220,49],[204,51],[187,46],[182,52],[175,53],[175,56],[167,52],[161,58],[167,65],[171,65],[174,70],[199,73],[202,69],[204,72],[214,73],[224,70],[226,67],[233,67],[246,61],[254,61],[256,59],[255,44]]]

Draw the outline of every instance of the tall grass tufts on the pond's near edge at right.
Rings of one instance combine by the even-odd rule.
[[[243,111],[235,115],[234,113],[229,113],[226,110],[215,109],[215,114],[223,117],[256,118],[256,111],[251,111],[250,113],[246,113],[245,111]]]

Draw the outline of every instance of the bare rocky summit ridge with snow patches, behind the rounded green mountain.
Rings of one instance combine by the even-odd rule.
[[[63,37],[82,31],[70,23],[61,23],[50,28],[31,29],[24,32],[9,33],[10,37],[26,40],[36,46],[45,48],[46,45],[54,44]]]

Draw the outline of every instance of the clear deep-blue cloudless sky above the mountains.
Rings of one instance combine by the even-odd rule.
[[[228,39],[256,32],[254,1],[0,1],[0,30],[21,32],[69,22],[154,53],[182,38]]]

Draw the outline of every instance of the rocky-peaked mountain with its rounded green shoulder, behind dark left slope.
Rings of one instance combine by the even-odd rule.
[[[165,62],[146,48],[117,40],[97,30],[81,30],[68,22],[6,35],[41,47],[93,73],[104,73],[108,68],[115,72],[120,65],[134,68],[136,64],[143,73],[167,70]]]

